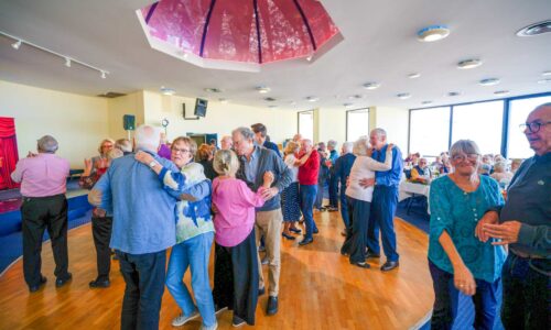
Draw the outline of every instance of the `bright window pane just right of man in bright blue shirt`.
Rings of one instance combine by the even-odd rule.
[[[436,156],[447,151],[450,107],[410,111],[410,153]]]

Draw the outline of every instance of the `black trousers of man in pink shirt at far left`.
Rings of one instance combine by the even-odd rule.
[[[55,276],[68,277],[67,199],[65,195],[23,197],[23,274],[29,286],[40,284],[42,238],[47,229],[55,261]]]

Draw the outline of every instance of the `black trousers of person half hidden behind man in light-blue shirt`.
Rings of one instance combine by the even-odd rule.
[[[111,271],[111,240],[112,217],[91,217],[91,234],[96,246],[98,277],[97,280],[108,280]]]

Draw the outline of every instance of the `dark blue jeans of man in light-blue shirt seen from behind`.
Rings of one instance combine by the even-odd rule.
[[[159,329],[159,311],[164,293],[166,250],[130,254],[116,251],[125,278],[120,328]]]

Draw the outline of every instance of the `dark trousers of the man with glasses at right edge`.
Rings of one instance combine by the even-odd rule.
[[[549,329],[551,272],[549,260],[530,260],[509,252],[501,271],[505,329]]]

